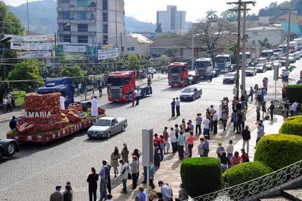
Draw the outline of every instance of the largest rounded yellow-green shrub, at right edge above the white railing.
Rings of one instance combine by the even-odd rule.
[[[257,144],[254,161],[279,170],[301,160],[302,137],[285,134],[267,135]]]

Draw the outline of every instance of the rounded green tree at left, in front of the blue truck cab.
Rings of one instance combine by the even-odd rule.
[[[37,59],[24,60],[20,64],[15,65],[14,70],[9,73],[8,80],[9,81],[20,81],[20,82],[12,82],[11,86],[21,91],[32,92],[37,88],[43,85],[43,79],[39,75],[39,68],[37,65],[31,63]],[[32,82],[24,82],[27,80],[39,80]]]

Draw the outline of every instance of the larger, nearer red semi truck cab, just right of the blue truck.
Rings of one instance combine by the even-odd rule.
[[[152,94],[152,87],[136,87],[135,72],[114,72],[107,78],[108,101],[131,101],[133,90],[139,89],[140,97]]]

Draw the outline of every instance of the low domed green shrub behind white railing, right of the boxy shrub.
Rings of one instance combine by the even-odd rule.
[[[257,145],[258,146],[258,145]],[[235,186],[247,181],[256,179],[273,172],[265,163],[261,162],[247,162],[240,163],[228,169],[222,174],[223,182],[228,186]]]

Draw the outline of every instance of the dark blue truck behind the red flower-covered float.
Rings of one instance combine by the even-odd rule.
[[[72,82],[69,76],[63,78],[47,78],[43,87],[37,89],[38,94],[50,94],[54,92],[61,93],[65,98],[65,108],[73,103],[80,103],[83,106],[84,111],[87,111],[88,108],[91,108],[90,101],[74,102],[74,86],[72,86]]]

